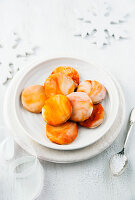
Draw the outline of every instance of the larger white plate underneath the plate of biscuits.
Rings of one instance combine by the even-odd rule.
[[[18,143],[28,153],[33,154],[32,148],[28,145],[28,144],[31,144],[34,150],[36,151],[39,159],[46,160],[49,162],[55,162],[55,163],[73,163],[73,162],[79,162],[79,161],[90,159],[96,156],[97,154],[101,153],[102,151],[104,151],[113,143],[113,141],[119,135],[120,130],[124,124],[125,100],[124,100],[121,87],[116,80],[115,80],[115,85],[118,90],[119,102],[120,102],[116,119],[113,125],[111,126],[111,128],[107,131],[107,133],[101,139],[99,139],[94,144],[89,145],[85,148],[73,150],[73,151],[59,151],[59,150],[54,150],[54,149],[44,147],[34,142],[29,136],[27,136],[26,134],[23,134],[17,128],[17,126],[15,126],[15,123],[13,123],[14,118],[10,116],[10,113],[12,112],[12,107],[9,104],[7,104],[7,101],[6,101],[4,110],[5,110],[5,118],[6,118],[7,126],[13,130],[12,135],[16,143]],[[9,92],[7,93],[6,99],[10,99],[10,97],[12,96],[13,90],[14,90],[14,87],[13,85],[11,85]],[[13,99],[11,99],[10,103],[13,104]]]

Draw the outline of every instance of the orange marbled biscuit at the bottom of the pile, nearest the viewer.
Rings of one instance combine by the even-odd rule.
[[[60,126],[46,125],[46,136],[57,144],[70,144],[78,136],[78,126],[74,122],[66,122]]]

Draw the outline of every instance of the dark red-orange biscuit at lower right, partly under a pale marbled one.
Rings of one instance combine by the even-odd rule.
[[[80,122],[79,125],[87,128],[96,128],[102,124],[104,120],[104,108],[101,104],[93,105],[93,112],[89,119]]]

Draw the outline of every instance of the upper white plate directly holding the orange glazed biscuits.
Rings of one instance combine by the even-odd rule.
[[[80,74],[80,81],[91,79],[101,82],[108,92],[103,102],[105,109],[103,124],[95,129],[79,127],[78,137],[69,145],[51,143],[46,137],[45,122],[41,114],[33,114],[26,111],[20,102],[20,94],[25,87],[34,84],[44,84],[45,79],[50,75],[52,70],[60,65],[72,66],[77,69]],[[23,131],[24,134],[27,134],[43,146],[58,150],[73,150],[86,147],[103,137],[116,118],[119,106],[117,88],[108,73],[90,63],[74,58],[55,58],[29,66],[21,71],[18,76],[20,78],[14,86],[14,92],[11,97],[14,102],[12,105],[14,107],[13,117],[20,131]]]

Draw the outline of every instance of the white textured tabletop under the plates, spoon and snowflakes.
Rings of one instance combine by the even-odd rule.
[[[100,50],[85,40],[72,37],[75,26],[73,10],[83,6],[87,7],[89,2],[89,0],[1,1],[0,35],[6,35],[12,30],[18,31],[28,41],[31,40],[41,47],[37,57],[39,55],[53,56],[56,53],[59,55],[65,53],[67,56],[81,54],[89,57],[92,62],[104,66],[116,76],[123,88],[126,99],[126,119],[128,119],[129,111],[135,105],[135,13],[130,17],[127,25],[130,38],[120,42],[116,41],[108,48]],[[123,7],[122,2],[121,0],[116,2],[118,8]],[[129,0],[128,4],[135,6],[133,0]],[[31,60],[37,59],[37,57],[33,57]],[[8,84],[0,87],[1,125],[4,123],[2,116],[3,97]],[[38,200],[135,199],[134,131],[135,129],[133,129],[128,142],[129,165],[122,176],[112,177],[108,161],[112,154],[121,149],[126,124],[111,147],[90,160],[76,164],[42,162],[45,181],[44,189]],[[26,154],[18,146],[16,151],[18,156]],[[0,166],[0,200],[12,200],[14,190],[10,184],[8,168],[8,165]]]

